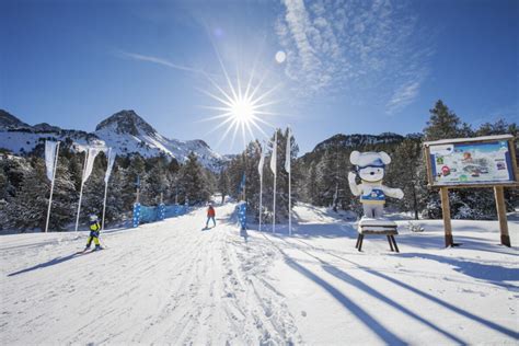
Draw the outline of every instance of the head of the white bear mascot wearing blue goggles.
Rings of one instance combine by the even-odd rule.
[[[391,162],[391,158],[383,151],[354,151],[349,155],[349,161],[357,166],[357,172],[362,181],[373,183],[384,177],[384,168]]]

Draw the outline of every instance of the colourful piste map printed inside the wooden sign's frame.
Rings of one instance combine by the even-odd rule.
[[[429,147],[432,184],[492,184],[515,181],[509,142],[446,143]]]

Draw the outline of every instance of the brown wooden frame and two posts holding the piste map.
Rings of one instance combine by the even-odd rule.
[[[510,154],[511,163],[511,173],[512,180],[503,181],[503,182],[484,182],[484,183],[449,183],[449,184],[438,184],[435,183],[432,163],[430,157],[430,147],[439,145],[474,145],[474,143],[491,143],[496,141],[507,141],[508,149]],[[505,187],[517,187],[519,186],[519,173],[517,168],[517,157],[516,157],[516,138],[512,135],[501,135],[501,136],[487,136],[487,137],[476,137],[476,138],[463,138],[463,139],[445,139],[438,141],[427,141],[424,142],[424,157],[427,165],[427,180],[429,188],[439,188],[440,198],[441,198],[441,211],[443,215],[443,227],[445,227],[445,238],[446,238],[446,247],[455,246],[454,239],[452,237],[452,224],[450,218],[450,205],[449,205],[449,189],[452,188],[473,188],[473,187],[493,187],[494,197],[496,200],[497,218],[499,220],[499,230],[500,230],[500,242],[503,245],[511,246],[510,235],[508,233],[508,221],[506,216],[506,205],[505,205]]]

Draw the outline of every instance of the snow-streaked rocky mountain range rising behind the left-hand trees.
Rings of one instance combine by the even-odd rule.
[[[181,141],[162,136],[134,111],[112,115],[89,134],[65,130],[46,123],[31,126],[0,109],[0,148],[27,153],[43,145],[45,139],[71,141],[74,150],[82,150],[85,146],[107,146],[123,155],[140,153],[151,158],[164,154],[180,162],[184,162],[193,151],[200,163],[212,171],[219,170],[226,161],[203,140]]]

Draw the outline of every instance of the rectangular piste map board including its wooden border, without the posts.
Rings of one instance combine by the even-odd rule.
[[[493,136],[426,142],[429,185],[517,184],[512,138]]]

